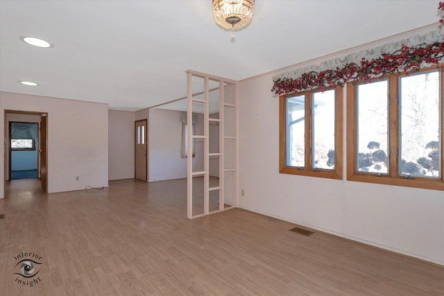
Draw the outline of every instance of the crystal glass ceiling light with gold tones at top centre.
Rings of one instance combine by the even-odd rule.
[[[216,24],[228,31],[239,31],[253,20],[255,0],[213,0]]]

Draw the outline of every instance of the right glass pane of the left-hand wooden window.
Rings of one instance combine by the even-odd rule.
[[[335,104],[334,89],[316,92],[312,96],[311,112],[313,114],[313,168],[333,169],[335,166]]]

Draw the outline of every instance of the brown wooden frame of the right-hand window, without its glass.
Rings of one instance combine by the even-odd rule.
[[[421,69],[419,72],[433,71],[438,69],[441,72],[441,152],[444,149],[444,137],[442,131],[444,130],[444,64],[439,64],[438,67],[427,67]],[[398,97],[400,94],[400,77],[406,76],[406,73],[394,73],[388,78],[388,175],[378,175],[378,173],[358,172],[356,170],[357,163],[357,145],[356,145],[356,126],[357,126],[357,85],[365,83],[363,81],[349,82],[347,84],[347,180],[358,182],[369,182],[377,184],[387,184],[396,186],[416,187],[422,189],[444,190],[444,157],[441,156],[441,177],[417,177],[406,178],[400,175],[399,158],[395,151],[399,147],[399,125],[400,114]],[[374,82],[377,79],[373,80]]]

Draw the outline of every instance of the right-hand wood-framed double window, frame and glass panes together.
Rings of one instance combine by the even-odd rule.
[[[348,83],[348,180],[444,190],[442,74]]]

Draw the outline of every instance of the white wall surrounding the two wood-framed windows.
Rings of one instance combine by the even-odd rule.
[[[278,73],[239,82],[239,207],[444,265],[443,191],[279,173]]]

